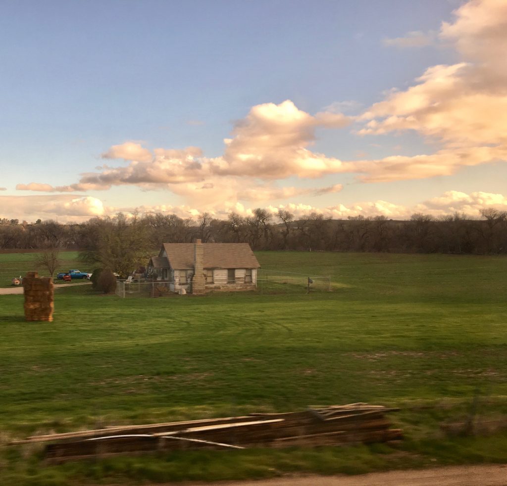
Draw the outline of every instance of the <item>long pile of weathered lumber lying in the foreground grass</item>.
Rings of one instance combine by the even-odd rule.
[[[390,422],[385,417],[387,412],[395,410],[352,403],[309,407],[303,412],[250,414],[39,435],[12,444],[51,442],[46,446],[46,458],[51,462],[199,448],[343,446],[401,439],[402,430],[390,429]]]

